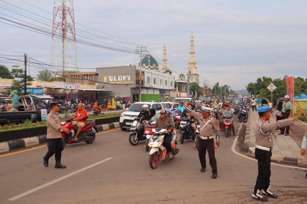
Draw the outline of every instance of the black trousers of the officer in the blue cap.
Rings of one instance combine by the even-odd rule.
[[[258,160],[258,176],[254,193],[262,189],[266,191],[270,186],[271,156],[272,152],[258,148],[255,149],[255,158]]]

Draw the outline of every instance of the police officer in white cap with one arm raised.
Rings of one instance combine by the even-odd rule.
[[[206,150],[209,155],[209,163],[212,168],[212,179],[217,178],[217,166],[216,166],[216,158],[214,155],[214,135],[216,134],[217,146],[220,145],[220,130],[218,121],[212,117],[211,111],[212,108],[202,107],[200,113],[193,111],[188,108],[188,103],[185,103],[185,108],[188,112],[190,112],[195,119],[200,122],[200,136],[199,136],[199,148],[198,148],[198,157],[201,164],[201,172],[206,171]],[[200,115],[201,114],[201,115]]]

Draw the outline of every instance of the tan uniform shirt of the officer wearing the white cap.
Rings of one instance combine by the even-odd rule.
[[[190,111],[190,113],[194,116],[195,119],[199,120],[199,131],[202,129],[202,127],[208,122],[208,120],[211,120],[211,122],[209,122],[207,124],[206,127],[204,127],[204,129],[200,132],[200,136],[203,137],[210,137],[210,136],[214,136],[214,132],[217,136],[217,142],[220,142],[220,130],[219,130],[219,123],[218,121],[213,118],[213,117],[208,117],[208,118],[203,118],[202,116],[200,116],[199,113],[197,113],[196,111],[192,111],[190,108],[186,108],[188,111]]]

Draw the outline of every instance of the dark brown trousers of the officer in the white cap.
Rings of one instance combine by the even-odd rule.
[[[202,168],[206,168],[206,150],[208,151],[209,164],[212,168],[212,173],[217,173],[216,158],[214,154],[214,143],[213,138],[208,140],[203,140],[199,138],[198,140],[198,157]]]

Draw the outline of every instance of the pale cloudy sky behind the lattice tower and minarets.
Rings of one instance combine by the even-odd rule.
[[[108,46],[127,47],[131,50],[136,49],[135,44],[147,45],[148,51],[156,55],[156,58],[160,58],[158,59],[160,62],[165,42],[168,65],[175,71],[175,79],[179,73],[187,71],[190,37],[193,31],[200,85],[203,84],[204,78],[207,78],[207,83],[211,87],[219,82],[221,85],[230,85],[233,90],[245,89],[249,82],[255,82],[262,76],[307,77],[305,8],[307,8],[305,0],[74,0],[75,22],[78,23],[76,29],[83,32],[76,30],[76,34],[79,35],[77,37],[81,38],[82,35],[99,42],[86,38],[82,38],[83,40],[104,45],[109,43],[112,45]],[[52,21],[49,19],[52,19],[52,12],[52,0],[0,1],[0,17],[18,22],[25,21],[50,31]],[[34,17],[40,15],[41,17],[36,20],[45,20],[49,23],[42,24],[31,20],[27,18],[28,15]],[[0,21],[9,23],[2,19]],[[46,64],[50,63],[50,36],[2,22],[0,22],[0,54],[16,54],[7,51],[27,53],[42,57],[35,58]],[[106,40],[104,37],[111,40]],[[135,53],[111,51],[80,43],[76,44],[76,50],[78,65],[81,67],[124,66],[136,64],[140,59]],[[4,64],[3,61],[0,63]],[[7,65],[10,68],[12,64]],[[161,67],[160,65],[160,69]],[[31,72],[30,68],[30,74],[35,76],[38,70],[32,69]]]

